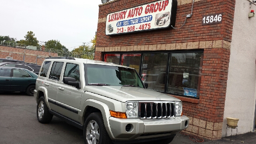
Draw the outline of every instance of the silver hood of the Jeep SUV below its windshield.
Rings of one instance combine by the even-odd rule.
[[[85,90],[118,100],[120,102],[132,101],[180,101],[168,94],[154,90],[128,86],[86,86]]]

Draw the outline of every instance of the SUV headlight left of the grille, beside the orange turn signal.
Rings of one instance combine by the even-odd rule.
[[[125,107],[127,118],[138,118],[138,102],[126,102]]]

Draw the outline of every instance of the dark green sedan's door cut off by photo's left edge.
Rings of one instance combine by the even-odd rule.
[[[10,90],[11,68],[0,69],[0,90]]]

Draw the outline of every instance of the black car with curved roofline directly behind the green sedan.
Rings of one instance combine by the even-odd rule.
[[[26,63],[26,62],[2,62],[2,63],[0,63],[0,66],[25,68],[27,70],[30,70],[31,72],[34,72],[37,75],[38,75],[39,70],[41,68],[40,65],[32,64],[32,63]]]

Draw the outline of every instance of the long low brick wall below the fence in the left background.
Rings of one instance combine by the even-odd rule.
[[[6,56],[10,56],[14,60],[24,60],[28,63],[41,65],[45,58],[49,56],[58,56],[58,54],[40,50],[29,50],[10,46],[0,46],[0,58],[6,58]]]

